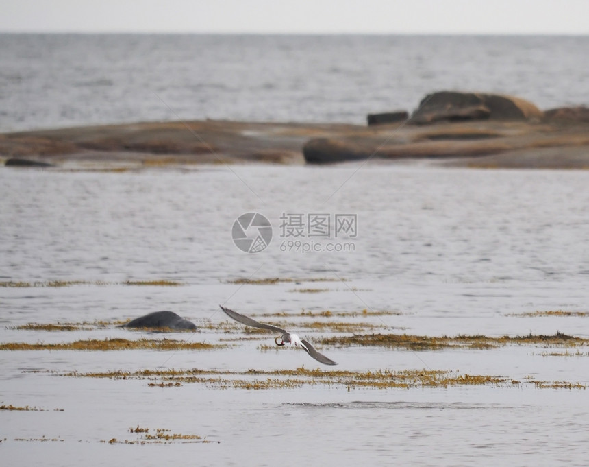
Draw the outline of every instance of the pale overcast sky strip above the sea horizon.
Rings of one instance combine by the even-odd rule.
[[[589,0],[0,0],[0,31],[589,34]]]

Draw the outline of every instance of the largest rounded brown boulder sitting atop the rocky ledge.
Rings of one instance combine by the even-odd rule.
[[[409,123],[425,125],[437,121],[541,119],[544,112],[519,97],[442,91],[425,96]]]

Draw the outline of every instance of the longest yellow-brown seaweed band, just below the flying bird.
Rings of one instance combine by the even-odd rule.
[[[525,383],[507,376],[463,374],[447,370],[376,370],[353,372],[349,370],[323,371],[301,367],[296,370],[142,370],[139,372],[104,372],[88,374],[62,374],[110,379],[147,379],[150,386],[170,387],[187,383],[197,383],[215,389],[268,390],[301,387],[305,385],[324,385],[351,390],[358,387],[375,389],[410,389],[414,387],[451,387],[490,385],[500,387],[533,384],[539,388],[585,389],[582,383],[565,381],[534,381]]]

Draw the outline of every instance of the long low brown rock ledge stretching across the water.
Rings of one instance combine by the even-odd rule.
[[[334,163],[429,160],[451,167],[589,169],[589,123],[566,120],[377,126],[211,120],[92,125],[0,134],[0,162],[17,159],[98,168],[302,165],[305,146],[313,142],[338,149],[337,157],[328,161]]]

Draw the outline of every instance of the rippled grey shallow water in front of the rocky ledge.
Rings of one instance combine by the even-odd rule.
[[[217,343],[242,336],[223,332],[218,304],[293,328],[311,319],[303,309],[329,309],[358,315],[324,320],[381,326],[374,332],[588,337],[582,316],[518,315],[588,311],[588,182],[585,171],[371,163],[127,173],[1,169],[0,280],[31,287],[0,287],[0,342],[159,337],[113,326],[71,332],[14,326],[125,320],[160,309],[201,327],[166,338]],[[273,225],[270,246],[257,254],[241,252],[231,240],[234,220],[249,211]],[[355,237],[336,239],[331,232],[313,239],[321,246],[351,243],[354,251],[281,251],[288,241],[279,227],[284,213],[358,215]],[[268,277],[299,283],[227,282]],[[125,284],[162,279],[183,285]],[[47,287],[51,280],[83,283]],[[363,309],[399,314],[364,316]],[[277,311],[286,316],[261,316]],[[311,342],[331,335],[303,333]],[[220,390],[58,375],[318,367],[301,351],[261,351],[273,335],[258,337],[192,352],[1,351],[0,405],[45,409],[0,411],[3,465],[586,464],[586,390],[526,381],[589,384],[587,348],[568,349],[568,357],[547,355],[564,348],[531,345],[321,348],[338,370],[452,370],[505,376],[519,385]],[[108,444],[138,440],[129,432],[137,426],[200,435],[210,443]]]

